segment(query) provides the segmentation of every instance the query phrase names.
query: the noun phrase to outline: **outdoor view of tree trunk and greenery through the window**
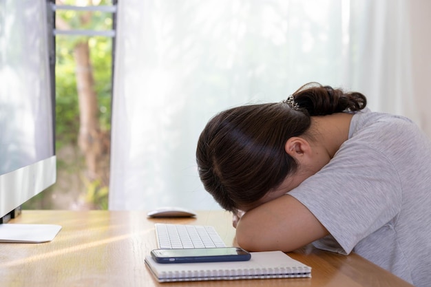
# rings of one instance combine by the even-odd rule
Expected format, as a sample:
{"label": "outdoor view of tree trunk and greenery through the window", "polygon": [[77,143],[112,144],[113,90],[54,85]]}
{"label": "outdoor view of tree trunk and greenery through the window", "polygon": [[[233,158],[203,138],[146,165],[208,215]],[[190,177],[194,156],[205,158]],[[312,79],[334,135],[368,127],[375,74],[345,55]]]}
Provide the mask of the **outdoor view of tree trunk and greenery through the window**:
{"label": "outdoor view of tree trunk and greenery through the window", "polygon": [[[109,0],[79,1],[80,6]],[[76,5],[56,0],[57,5]],[[57,10],[57,30],[109,30],[111,15]],[[111,39],[56,36],[57,183],[28,208],[107,208],[109,184]],[[64,200],[59,200],[59,198]],[[52,200],[55,198],[55,200]],[[64,202],[64,203],[61,203]],[[59,206],[59,204],[62,204]]]}

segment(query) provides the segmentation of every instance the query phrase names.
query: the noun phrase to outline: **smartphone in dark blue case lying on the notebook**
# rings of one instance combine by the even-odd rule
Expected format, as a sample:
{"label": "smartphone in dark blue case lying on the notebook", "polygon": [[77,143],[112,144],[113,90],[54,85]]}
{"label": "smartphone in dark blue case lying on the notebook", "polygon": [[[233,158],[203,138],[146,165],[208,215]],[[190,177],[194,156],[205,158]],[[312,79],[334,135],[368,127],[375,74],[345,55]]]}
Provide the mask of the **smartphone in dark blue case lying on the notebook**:
{"label": "smartphone in dark blue case lying on the notebook", "polygon": [[249,252],[240,247],[154,249],[151,257],[158,263],[247,261]]}

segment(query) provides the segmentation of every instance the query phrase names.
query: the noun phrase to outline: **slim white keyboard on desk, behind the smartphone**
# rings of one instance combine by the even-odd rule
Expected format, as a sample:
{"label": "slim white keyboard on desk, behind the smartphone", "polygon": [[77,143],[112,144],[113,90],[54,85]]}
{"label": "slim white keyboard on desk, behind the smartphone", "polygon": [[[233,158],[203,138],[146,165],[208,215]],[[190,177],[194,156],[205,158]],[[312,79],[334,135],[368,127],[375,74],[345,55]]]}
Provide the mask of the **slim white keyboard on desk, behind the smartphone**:
{"label": "slim white keyboard on desk, behind the smartphone", "polygon": [[213,226],[154,224],[160,249],[226,247]]}

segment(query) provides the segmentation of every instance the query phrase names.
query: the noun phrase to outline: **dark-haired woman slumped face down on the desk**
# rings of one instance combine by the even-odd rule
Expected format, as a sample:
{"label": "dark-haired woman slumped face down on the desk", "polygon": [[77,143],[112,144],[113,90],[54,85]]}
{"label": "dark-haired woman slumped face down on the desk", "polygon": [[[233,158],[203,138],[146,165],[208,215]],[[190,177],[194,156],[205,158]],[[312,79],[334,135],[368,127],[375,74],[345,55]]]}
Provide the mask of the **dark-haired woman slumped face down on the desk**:
{"label": "dark-haired woman slumped face down on the desk", "polygon": [[352,251],[431,286],[431,145],[357,92],[304,85],[282,103],[222,111],[196,151],[205,189],[244,213],[249,251]]}

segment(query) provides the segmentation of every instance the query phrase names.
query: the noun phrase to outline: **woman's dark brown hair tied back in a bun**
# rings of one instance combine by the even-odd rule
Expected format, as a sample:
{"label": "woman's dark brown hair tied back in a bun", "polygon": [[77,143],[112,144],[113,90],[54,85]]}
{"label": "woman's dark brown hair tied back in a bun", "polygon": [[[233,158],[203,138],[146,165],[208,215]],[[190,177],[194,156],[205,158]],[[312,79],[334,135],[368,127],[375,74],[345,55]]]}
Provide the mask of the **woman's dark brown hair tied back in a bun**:
{"label": "woman's dark brown hair tied back in a bun", "polygon": [[284,145],[307,131],[311,116],[366,107],[363,94],[318,83],[308,83],[292,96],[297,109],[285,102],[234,107],[211,118],[200,134],[200,180],[223,209],[235,212],[256,202],[295,173],[297,162]]}

